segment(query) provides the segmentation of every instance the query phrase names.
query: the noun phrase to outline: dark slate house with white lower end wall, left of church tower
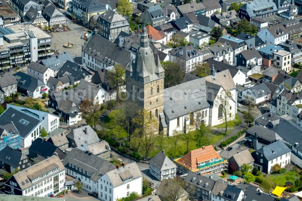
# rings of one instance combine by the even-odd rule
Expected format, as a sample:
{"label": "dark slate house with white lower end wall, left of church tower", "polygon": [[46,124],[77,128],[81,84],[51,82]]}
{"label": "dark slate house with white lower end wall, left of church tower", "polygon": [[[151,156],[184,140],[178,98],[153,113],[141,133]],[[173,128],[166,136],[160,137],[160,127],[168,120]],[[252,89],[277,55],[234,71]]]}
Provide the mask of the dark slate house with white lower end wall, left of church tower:
{"label": "dark slate house with white lower end wall, left of church tower", "polygon": [[49,97],[48,106],[57,110],[67,124],[74,125],[82,120],[82,112],[79,106],[81,100],[73,90],[50,91]]}

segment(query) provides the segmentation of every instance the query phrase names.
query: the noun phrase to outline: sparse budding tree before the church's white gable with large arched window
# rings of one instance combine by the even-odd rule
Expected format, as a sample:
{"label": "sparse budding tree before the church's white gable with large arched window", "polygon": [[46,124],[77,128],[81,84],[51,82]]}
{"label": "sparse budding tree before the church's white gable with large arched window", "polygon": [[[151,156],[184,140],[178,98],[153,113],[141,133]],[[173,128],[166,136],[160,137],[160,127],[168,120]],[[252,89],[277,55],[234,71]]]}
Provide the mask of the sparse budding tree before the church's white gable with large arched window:
{"label": "sparse budding tree before the church's white gable with large arched window", "polygon": [[233,122],[230,122],[230,120],[232,120],[234,116],[230,112],[231,108],[229,103],[232,96],[230,91],[223,89],[215,100],[215,106],[218,108],[218,119],[225,125],[225,135],[228,126],[233,125]]}

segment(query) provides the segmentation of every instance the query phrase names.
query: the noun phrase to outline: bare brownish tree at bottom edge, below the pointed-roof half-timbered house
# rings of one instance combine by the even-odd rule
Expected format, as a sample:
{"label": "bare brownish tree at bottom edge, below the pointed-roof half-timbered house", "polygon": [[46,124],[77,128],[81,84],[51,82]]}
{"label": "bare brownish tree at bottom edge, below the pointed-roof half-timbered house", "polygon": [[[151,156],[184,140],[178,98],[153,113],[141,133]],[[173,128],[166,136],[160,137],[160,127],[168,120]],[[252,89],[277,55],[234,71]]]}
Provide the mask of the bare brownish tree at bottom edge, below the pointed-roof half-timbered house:
{"label": "bare brownish tree at bottom edge, below the pointed-roof half-timbered house", "polygon": [[162,201],[177,201],[185,188],[185,181],[176,176],[172,179],[164,179],[157,191],[158,196]]}

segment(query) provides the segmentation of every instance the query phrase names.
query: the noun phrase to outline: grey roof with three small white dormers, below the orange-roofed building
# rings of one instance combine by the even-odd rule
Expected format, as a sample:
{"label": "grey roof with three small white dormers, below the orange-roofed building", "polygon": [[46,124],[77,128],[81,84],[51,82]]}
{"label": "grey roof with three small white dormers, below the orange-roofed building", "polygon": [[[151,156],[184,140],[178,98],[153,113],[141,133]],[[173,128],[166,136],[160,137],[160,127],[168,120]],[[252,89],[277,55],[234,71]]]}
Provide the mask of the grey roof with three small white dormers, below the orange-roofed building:
{"label": "grey roof with three small white dormers, below the orange-roofed building", "polygon": [[[194,178],[194,181],[192,179]],[[214,186],[215,181],[201,174],[196,174],[195,172],[189,171],[185,178],[185,182],[194,185],[202,190],[210,192]],[[198,182],[200,184],[198,184]],[[207,186],[205,185],[207,184]]]}

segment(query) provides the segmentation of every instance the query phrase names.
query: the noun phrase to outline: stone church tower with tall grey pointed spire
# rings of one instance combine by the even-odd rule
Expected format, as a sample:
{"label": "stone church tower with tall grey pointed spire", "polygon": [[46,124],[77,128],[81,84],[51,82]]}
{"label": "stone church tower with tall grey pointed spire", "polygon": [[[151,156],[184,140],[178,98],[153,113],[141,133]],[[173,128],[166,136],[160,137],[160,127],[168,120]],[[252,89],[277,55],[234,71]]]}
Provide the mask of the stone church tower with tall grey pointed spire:
{"label": "stone church tower with tall grey pointed spire", "polygon": [[159,123],[159,114],[164,111],[165,70],[158,56],[155,62],[149,43],[146,26],[143,25],[135,60],[131,57],[126,67],[127,102],[135,102],[139,106],[137,109],[145,108]]}

